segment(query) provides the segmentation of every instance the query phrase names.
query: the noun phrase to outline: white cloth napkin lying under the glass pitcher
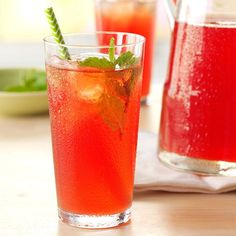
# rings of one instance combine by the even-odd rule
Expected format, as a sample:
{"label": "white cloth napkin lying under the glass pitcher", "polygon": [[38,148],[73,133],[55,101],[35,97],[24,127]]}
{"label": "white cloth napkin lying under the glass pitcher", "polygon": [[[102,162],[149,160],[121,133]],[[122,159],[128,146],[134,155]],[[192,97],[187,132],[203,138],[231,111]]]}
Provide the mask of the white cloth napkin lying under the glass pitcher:
{"label": "white cloth napkin lying under the glass pitcher", "polygon": [[135,191],[223,193],[236,190],[236,177],[198,176],[164,166],[157,158],[157,135],[139,132]]}

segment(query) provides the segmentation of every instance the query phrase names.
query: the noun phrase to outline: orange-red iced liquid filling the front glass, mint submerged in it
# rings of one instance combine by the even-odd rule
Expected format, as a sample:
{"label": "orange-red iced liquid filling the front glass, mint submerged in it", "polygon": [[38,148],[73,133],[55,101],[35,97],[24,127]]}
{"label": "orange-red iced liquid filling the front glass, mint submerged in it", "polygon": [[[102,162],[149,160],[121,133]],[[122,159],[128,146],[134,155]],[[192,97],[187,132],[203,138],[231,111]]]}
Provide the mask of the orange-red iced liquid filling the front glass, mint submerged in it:
{"label": "orange-red iced liquid filling the front glass, mint submerged in it", "polygon": [[140,77],[139,65],[123,70],[47,65],[61,210],[109,215],[131,206]]}

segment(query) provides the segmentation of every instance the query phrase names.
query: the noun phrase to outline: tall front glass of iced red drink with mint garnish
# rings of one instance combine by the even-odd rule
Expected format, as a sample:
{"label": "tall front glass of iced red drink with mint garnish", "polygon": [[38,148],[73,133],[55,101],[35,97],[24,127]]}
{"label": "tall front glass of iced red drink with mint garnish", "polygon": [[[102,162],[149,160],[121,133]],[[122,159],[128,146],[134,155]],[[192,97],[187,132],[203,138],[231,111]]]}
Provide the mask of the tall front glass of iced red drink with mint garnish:
{"label": "tall front glass of iced red drink with mint garnish", "polygon": [[[114,41],[100,44],[103,37]],[[64,38],[65,45],[44,40],[59,217],[113,227],[130,219],[145,39],[103,32]]]}

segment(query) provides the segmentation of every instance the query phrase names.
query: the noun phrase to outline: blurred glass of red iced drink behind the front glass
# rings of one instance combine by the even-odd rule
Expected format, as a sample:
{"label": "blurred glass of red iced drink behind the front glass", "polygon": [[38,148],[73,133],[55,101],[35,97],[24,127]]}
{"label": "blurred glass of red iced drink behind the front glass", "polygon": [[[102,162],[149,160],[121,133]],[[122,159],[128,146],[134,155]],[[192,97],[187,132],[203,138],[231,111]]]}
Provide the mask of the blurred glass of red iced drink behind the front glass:
{"label": "blurred glass of red iced drink behind the front glass", "polygon": [[96,0],[97,30],[141,34],[146,38],[142,101],[152,77],[156,0]]}

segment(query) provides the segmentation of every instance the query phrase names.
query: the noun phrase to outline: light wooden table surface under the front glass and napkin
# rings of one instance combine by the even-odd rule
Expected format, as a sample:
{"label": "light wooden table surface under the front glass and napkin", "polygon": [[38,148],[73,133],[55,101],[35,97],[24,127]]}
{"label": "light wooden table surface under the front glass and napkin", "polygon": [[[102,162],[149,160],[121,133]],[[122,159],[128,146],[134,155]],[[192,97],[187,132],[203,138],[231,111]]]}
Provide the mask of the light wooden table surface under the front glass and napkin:
{"label": "light wooden table surface under the front glass and napkin", "polygon": [[[160,88],[140,128],[157,132]],[[235,236],[236,193],[136,193],[132,221],[85,230],[58,221],[47,115],[0,117],[0,236]]]}

